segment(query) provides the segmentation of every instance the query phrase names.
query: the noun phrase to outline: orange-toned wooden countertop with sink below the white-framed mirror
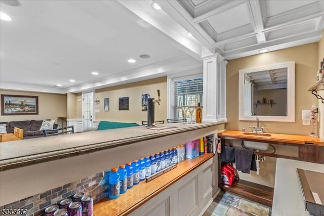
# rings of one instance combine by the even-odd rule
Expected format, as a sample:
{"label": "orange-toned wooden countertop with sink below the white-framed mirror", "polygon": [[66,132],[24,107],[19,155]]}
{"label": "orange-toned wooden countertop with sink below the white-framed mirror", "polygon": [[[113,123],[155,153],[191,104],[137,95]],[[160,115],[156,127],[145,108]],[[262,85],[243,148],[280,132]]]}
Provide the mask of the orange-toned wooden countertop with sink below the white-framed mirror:
{"label": "orange-toned wooden countertop with sink below the white-framed mirror", "polygon": [[265,133],[265,134],[271,134],[271,136],[263,136],[263,135],[246,135],[244,133],[245,132],[237,131],[237,130],[224,130],[219,132],[218,136],[256,140],[256,141],[289,143],[289,144],[297,144],[297,145],[313,144],[318,146],[324,146],[324,140],[320,138],[312,138],[310,136],[305,136],[305,135]]}

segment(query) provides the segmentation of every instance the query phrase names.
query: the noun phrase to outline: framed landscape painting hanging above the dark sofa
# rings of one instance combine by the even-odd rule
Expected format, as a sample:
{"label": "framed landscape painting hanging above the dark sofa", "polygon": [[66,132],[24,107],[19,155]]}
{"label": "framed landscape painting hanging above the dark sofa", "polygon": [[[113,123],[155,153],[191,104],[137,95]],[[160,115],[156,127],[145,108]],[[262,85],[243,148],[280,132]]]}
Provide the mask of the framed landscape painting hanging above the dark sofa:
{"label": "framed landscape painting hanging above the dark sofa", "polygon": [[38,115],[38,96],[2,94],[1,115]]}

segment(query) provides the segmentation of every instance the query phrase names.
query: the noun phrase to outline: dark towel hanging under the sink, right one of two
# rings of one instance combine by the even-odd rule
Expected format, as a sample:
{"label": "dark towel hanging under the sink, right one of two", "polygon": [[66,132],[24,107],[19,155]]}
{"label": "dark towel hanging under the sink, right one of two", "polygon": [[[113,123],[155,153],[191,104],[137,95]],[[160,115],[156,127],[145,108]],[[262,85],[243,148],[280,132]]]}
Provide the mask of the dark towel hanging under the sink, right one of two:
{"label": "dark towel hanging under the sink, right one of two", "polygon": [[253,150],[235,149],[235,166],[238,171],[250,173]]}

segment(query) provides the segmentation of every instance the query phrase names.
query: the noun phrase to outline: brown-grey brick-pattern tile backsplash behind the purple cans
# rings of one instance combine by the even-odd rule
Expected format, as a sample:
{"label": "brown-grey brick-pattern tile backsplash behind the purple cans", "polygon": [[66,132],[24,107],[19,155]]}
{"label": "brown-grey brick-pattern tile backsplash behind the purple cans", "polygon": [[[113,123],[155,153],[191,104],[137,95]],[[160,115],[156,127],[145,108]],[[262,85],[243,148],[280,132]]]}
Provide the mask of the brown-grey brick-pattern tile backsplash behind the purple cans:
{"label": "brown-grey brick-pattern tile backsplash behind the purple cans", "polygon": [[[13,203],[0,206],[0,215],[4,215],[2,210],[8,208],[27,209],[28,213],[23,215],[43,215],[47,206],[58,204],[60,200],[64,198],[71,198],[73,194],[78,192],[84,192],[86,195],[91,195],[94,203],[98,202],[100,199],[107,196],[108,189],[108,183],[105,181],[106,177],[104,177],[103,181],[98,186],[101,179],[102,172],[57,188],[53,188],[41,194],[36,194]],[[91,186],[89,187],[89,185]]]}

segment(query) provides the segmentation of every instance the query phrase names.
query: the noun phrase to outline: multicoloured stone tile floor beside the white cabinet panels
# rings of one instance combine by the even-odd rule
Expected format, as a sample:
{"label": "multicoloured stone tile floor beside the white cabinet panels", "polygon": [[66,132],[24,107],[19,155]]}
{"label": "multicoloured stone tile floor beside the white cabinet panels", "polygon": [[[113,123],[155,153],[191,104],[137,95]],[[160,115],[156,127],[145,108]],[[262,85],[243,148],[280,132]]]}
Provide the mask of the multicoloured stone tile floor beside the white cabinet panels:
{"label": "multicoloured stone tile floor beside the white cabinet panels", "polygon": [[221,191],[203,216],[271,216],[271,207]]}

